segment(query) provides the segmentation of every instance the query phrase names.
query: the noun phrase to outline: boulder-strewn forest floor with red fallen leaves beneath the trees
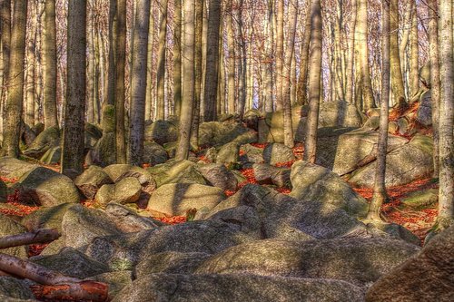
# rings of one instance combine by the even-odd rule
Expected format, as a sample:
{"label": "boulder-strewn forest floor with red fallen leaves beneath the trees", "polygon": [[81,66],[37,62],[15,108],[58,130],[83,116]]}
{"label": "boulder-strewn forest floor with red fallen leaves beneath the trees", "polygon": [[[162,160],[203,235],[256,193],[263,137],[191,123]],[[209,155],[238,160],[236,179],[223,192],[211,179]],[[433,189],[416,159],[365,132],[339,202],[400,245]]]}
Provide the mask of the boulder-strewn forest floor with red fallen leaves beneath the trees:
{"label": "boulder-strewn forest floor with red fallen leaves beneath the trees", "polygon": [[[346,103],[321,107],[317,164],[301,161],[304,107],[294,149],[280,112],[251,111],[202,123],[189,161],[173,160],[178,123],[150,122],[143,167],[113,164],[113,138],[87,124],[81,175],[55,171],[58,130],[25,127],[25,157],[0,159],[0,236],[62,236],[2,252],[107,283],[113,301],[450,301],[454,229],[421,248],[438,196],[421,100],[391,115],[386,222],[363,220],[377,114]],[[31,285],[0,277],[0,299],[32,301]]]}

